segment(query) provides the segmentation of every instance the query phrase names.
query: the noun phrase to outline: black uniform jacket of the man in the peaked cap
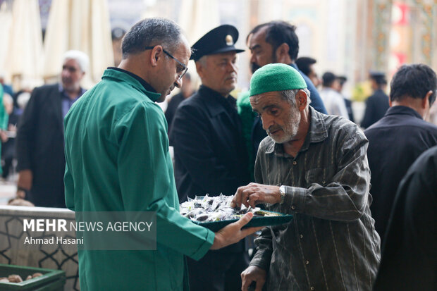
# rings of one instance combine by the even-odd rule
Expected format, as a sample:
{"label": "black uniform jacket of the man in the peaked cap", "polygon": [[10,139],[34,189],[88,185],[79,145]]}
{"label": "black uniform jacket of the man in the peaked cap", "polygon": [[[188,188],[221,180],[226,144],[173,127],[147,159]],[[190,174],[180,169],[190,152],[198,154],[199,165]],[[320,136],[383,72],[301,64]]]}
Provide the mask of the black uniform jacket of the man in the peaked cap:
{"label": "black uniform jacket of the man in the peaked cap", "polygon": [[170,132],[180,202],[187,197],[233,195],[246,185],[247,152],[233,97],[201,86],[183,101]]}

